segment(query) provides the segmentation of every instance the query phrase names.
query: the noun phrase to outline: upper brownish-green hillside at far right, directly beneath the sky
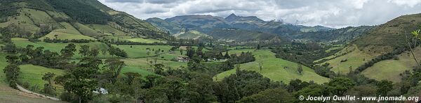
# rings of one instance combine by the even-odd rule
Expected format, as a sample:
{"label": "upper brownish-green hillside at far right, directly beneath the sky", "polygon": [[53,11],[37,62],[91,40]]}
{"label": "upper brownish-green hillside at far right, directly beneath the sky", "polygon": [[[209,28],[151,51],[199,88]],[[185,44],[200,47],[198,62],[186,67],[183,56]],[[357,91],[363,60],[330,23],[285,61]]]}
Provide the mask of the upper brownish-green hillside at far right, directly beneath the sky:
{"label": "upper brownish-green hillside at far right, directly beneath the sky", "polygon": [[376,26],[366,35],[354,40],[359,49],[373,54],[385,54],[406,44],[405,35],[418,29],[421,24],[421,14],[403,15],[391,21]]}

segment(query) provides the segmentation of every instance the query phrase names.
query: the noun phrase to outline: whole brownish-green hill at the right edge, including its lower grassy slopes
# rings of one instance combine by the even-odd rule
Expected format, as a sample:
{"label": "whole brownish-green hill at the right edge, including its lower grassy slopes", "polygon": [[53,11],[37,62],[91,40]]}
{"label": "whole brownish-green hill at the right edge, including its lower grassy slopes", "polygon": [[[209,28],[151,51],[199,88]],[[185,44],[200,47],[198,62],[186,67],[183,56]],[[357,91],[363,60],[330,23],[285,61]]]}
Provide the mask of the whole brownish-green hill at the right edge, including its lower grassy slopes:
{"label": "whole brownish-green hill at the right edge, including its lower grassy slopes", "polygon": [[[410,31],[419,29],[420,24],[421,14],[414,14],[403,15],[385,24],[374,26],[364,35],[350,42],[335,56],[327,57],[328,61],[324,63],[330,63],[334,72],[346,74],[349,68],[355,70],[364,63],[372,61],[373,58],[394,52],[396,49],[405,49],[407,47],[406,35],[410,37]],[[414,50],[414,54],[415,56],[421,54],[419,47]],[[405,70],[412,70],[414,66],[415,61],[410,56],[410,52],[406,51],[396,54],[394,59],[375,62],[361,73],[371,79],[398,82],[401,80],[400,74]]]}

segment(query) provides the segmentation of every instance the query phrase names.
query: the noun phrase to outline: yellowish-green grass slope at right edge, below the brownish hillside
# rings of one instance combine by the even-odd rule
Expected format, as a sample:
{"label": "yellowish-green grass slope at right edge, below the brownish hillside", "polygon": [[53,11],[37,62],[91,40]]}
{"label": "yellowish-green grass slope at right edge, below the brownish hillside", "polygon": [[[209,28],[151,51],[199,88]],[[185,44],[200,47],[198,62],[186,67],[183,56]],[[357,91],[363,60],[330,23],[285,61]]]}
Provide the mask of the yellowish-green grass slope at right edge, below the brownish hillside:
{"label": "yellowish-green grass slope at right edge, below the brownish hillside", "polygon": [[[415,57],[421,57],[421,48],[417,47],[414,49]],[[413,70],[417,65],[410,52],[403,52],[397,56],[397,60],[390,59],[375,63],[370,68],[367,68],[362,72],[366,77],[370,79],[382,80],[387,79],[389,81],[399,82],[401,81],[401,74],[405,70]],[[420,59],[418,59],[419,61]]]}

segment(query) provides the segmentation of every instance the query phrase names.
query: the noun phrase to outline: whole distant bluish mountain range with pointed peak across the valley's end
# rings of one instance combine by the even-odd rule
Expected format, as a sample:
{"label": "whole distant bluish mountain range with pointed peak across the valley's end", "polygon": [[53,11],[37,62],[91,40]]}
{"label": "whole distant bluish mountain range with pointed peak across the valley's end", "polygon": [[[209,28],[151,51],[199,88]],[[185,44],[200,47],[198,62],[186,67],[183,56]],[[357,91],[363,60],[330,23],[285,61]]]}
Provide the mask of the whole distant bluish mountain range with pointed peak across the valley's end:
{"label": "whole distant bluish mountain range with pointed peak across the valley's end", "polygon": [[[186,37],[186,35],[191,35],[198,37],[206,34],[206,36],[212,36],[217,40],[227,38],[222,40],[231,41],[267,40],[267,37],[275,35],[285,39],[304,38],[311,41],[349,42],[371,28],[371,26],[350,26],[343,29],[333,29],[326,26],[302,26],[287,22],[276,22],[275,20],[265,21],[255,16],[242,17],[234,13],[225,18],[212,15],[182,15],[167,19],[154,17],[146,19],[146,22],[162,31],[168,31],[172,35],[177,34],[175,36]],[[198,34],[185,32],[185,30],[194,31]],[[229,32],[233,30],[235,32]],[[244,34],[245,32],[246,34]],[[241,38],[241,36],[249,38]]]}

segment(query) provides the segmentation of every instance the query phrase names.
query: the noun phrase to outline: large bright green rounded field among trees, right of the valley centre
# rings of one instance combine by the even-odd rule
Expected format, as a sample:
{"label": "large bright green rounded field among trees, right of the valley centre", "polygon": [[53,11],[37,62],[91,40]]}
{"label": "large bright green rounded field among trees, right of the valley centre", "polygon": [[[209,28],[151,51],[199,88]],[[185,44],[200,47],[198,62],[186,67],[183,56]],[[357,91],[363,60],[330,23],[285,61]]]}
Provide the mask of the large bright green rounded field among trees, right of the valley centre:
{"label": "large bright green rounded field among trees, right of the valley centre", "polygon": [[[258,50],[255,51],[254,49],[242,49],[242,50],[233,50],[229,51],[229,54],[239,54],[241,52],[253,52],[253,55],[256,57],[256,61],[250,63],[243,63],[240,65],[241,70],[253,70],[256,72],[260,72],[265,77],[269,77],[269,79],[273,81],[283,81],[288,83],[290,80],[293,79],[301,79],[302,81],[314,81],[315,83],[322,84],[328,81],[328,78],[321,77],[319,74],[316,74],[314,70],[303,67],[303,73],[298,74],[297,72],[297,63],[293,63],[290,61],[283,60],[281,58],[276,58],[274,53],[270,52],[269,50]],[[258,62],[262,61],[263,69],[260,71]],[[224,77],[229,76],[230,74],[234,74],[235,69],[228,70],[226,72],[222,72],[216,75],[213,79],[214,80],[222,80]]]}

